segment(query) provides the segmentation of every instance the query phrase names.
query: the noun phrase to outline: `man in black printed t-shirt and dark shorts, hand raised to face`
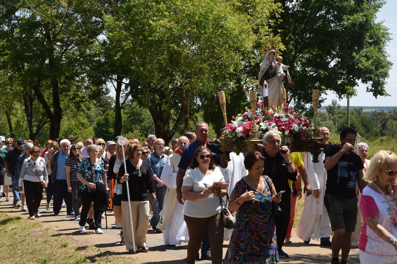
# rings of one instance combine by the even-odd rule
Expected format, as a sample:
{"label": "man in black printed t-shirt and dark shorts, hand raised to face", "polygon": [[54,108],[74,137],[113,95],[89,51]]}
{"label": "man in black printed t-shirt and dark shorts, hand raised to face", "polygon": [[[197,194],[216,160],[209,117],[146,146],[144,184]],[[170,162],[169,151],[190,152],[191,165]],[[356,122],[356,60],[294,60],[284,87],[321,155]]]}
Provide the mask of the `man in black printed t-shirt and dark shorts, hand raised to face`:
{"label": "man in black printed t-shirt and dark shorts, hand raised to face", "polygon": [[331,264],[339,264],[339,251],[342,249],[341,264],[347,263],[351,247],[351,233],[357,220],[356,180],[360,191],[365,187],[362,179],[364,165],[354,149],[357,132],[345,127],[340,134],[342,146],[328,144],[324,148],[324,167],[327,170],[327,184],[324,205],[330,217],[332,237]]}

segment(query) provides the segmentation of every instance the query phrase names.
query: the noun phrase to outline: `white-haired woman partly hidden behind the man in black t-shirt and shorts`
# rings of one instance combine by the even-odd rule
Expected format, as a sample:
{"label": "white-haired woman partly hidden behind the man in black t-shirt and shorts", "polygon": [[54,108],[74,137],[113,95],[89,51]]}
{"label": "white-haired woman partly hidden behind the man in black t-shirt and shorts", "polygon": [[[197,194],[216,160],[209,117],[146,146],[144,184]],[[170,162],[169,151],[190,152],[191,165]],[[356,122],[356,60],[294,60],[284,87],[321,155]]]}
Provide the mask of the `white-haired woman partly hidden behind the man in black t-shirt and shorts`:
{"label": "white-haired woman partly hidden behind the man in black t-shirt and shorts", "polygon": [[[358,156],[360,156],[362,164],[364,164],[364,169],[362,169],[362,172],[365,175],[366,170],[368,169],[368,167],[370,166],[371,161],[367,160],[366,158],[368,157],[368,144],[364,143],[364,142],[360,142],[357,144],[356,146],[356,152],[358,154]],[[358,207],[358,213],[357,213],[357,222],[356,222],[356,226],[354,229],[354,232],[351,234],[351,246],[352,247],[358,247],[358,240],[360,239],[360,234],[361,234],[361,211],[360,211],[360,189],[358,189],[358,184],[356,184],[356,194],[357,194],[357,207]]]}

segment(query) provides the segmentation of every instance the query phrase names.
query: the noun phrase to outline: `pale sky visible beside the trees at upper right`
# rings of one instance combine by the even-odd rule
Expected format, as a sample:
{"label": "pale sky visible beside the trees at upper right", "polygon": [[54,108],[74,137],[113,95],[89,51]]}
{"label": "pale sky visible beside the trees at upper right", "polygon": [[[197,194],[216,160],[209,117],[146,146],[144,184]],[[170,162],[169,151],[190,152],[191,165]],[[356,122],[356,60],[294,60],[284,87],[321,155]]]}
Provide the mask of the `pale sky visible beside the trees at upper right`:
{"label": "pale sky visible beside the trees at upper right", "polygon": [[[388,0],[386,4],[380,9],[377,14],[377,21],[383,21],[384,25],[389,28],[391,32],[391,38],[393,38],[386,51],[389,54],[389,60],[393,63],[389,72],[389,78],[387,78],[386,91],[391,96],[378,96],[375,98],[372,93],[366,92],[366,85],[360,84],[357,87],[357,96],[350,99],[351,106],[397,106],[397,0]],[[379,72],[379,74],[382,74]],[[331,104],[332,99],[339,101],[342,106],[347,105],[347,99],[339,100],[334,93],[328,93],[323,95],[327,97],[325,102],[322,104],[326,106]]]}

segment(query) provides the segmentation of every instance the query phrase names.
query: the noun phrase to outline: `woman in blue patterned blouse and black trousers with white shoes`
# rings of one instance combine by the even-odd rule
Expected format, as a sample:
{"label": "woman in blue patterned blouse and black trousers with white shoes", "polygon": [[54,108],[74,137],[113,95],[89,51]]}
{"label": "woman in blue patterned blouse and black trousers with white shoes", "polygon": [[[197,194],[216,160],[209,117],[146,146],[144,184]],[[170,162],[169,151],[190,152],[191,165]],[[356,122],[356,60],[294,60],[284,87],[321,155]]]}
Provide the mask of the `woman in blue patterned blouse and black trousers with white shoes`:
{"label": "woman in blue patterned blouse and black trousers with white shoes", "polygon": [[91,201],[94,202],[94,228],[96,234],[103,234],[101,220],[103,209],[107,204],[107,193],[110,191],[106,181],[104,163],[98,159],[98,146],[87,146],[88,158],[83,159],[77,170],[77,178],[81,181],[80,197],[82,202],[79,225],[80,231],[85,231],[85,222]]}

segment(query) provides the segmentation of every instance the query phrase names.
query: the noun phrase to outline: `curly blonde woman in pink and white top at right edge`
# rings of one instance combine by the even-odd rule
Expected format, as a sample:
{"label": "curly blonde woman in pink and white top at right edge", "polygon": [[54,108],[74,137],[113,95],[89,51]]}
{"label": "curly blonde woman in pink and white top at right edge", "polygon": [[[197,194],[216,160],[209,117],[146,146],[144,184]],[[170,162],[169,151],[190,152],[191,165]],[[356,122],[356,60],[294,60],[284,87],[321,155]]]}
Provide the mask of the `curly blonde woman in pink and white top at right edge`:
{"label": "curly blonde woman in pink and white top at right edge", "polygon": [[397,215],[396,177],[397,156],[384,150],[376,153],[364,175],[371,183],[362,190],[360,200],[364,218],[358,243],[361,264],[397,263],[397,221],[391,211]]}

